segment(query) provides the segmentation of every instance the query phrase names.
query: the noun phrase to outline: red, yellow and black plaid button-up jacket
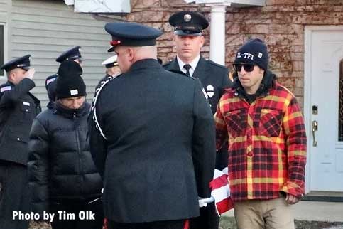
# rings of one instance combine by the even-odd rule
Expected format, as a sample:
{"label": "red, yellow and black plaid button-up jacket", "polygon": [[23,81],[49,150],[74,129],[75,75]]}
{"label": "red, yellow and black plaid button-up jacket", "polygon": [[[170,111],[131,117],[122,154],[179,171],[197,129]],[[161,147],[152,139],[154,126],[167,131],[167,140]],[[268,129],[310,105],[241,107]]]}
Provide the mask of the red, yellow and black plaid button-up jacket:
{"label": "red, yellow and black plaid button-up jacket", "polygon": [[230,88],[214,115],[217,149],[229,138],[232,199],[271,199],[281,191],[302,196],[306,133],[294,95],[277,82],[249,104]]}

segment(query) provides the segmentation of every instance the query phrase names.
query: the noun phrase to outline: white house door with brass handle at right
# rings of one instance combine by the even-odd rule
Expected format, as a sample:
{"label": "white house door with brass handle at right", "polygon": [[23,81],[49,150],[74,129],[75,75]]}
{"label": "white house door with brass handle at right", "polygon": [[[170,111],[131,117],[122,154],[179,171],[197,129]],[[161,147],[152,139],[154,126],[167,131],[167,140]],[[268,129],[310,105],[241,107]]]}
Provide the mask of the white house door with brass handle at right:
{"label": "white house door with brass handle at right", "polygon": [[[310,187],[343,191],[343,28],[307,31],[307,141]],[[310,53],[307,54],[306,52]],[[306,69],[308,68],[308,69]],[[305,76],[306,77],[306,76]],[[306,87],[306,85],[305,85]],[[307,169],[309,168],[307,167]],[[310,189],[310,190],[309,190]]]}

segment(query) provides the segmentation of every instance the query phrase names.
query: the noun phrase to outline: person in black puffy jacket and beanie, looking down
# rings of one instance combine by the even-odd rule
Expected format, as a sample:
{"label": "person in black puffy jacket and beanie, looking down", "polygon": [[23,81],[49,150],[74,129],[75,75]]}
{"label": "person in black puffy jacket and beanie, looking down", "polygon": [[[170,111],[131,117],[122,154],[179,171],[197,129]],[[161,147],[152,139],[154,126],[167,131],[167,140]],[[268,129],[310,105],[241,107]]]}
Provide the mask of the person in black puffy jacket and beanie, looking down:
{"label": "person in black puffy jacket and beanie, looking down", "polygon": [[55,108],[41,112],[31,127],[31,209],[41,217],[44,211],[55,213],[53,229],[102,228],[102,179],[87,142],[89,104],[82,68],[67,60],[58,75]]}

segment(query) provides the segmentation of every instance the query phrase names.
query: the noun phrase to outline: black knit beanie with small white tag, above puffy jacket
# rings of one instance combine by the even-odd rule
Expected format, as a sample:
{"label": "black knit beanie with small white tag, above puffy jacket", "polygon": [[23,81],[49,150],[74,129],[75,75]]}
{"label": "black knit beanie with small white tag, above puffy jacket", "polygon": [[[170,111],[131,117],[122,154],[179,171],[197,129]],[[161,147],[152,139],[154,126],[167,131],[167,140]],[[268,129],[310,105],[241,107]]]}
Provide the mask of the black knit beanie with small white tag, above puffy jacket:
{"label": "black knit beanie with small white tag, above puffy jacket", "polygon": [[58,68],[56,80],[56,97],[64,99],[68,97],[80,97],[87,95],[86,85],[82,78],[81,66],[73,60],[66,60]]}

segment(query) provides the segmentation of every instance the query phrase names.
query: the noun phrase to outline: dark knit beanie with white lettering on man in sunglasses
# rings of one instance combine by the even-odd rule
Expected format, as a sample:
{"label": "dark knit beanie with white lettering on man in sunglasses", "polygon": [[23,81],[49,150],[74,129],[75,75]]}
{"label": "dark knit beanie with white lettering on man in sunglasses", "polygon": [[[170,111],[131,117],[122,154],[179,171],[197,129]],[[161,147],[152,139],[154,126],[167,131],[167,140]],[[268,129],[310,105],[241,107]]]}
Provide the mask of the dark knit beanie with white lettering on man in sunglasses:
{"label": "dark knit beanie with white lettering on man in sunglasses", "polygon": [[263,70],[268,69],[267,46],[260,39],[247,41],[236,54],[234,63],[253,63]]}

